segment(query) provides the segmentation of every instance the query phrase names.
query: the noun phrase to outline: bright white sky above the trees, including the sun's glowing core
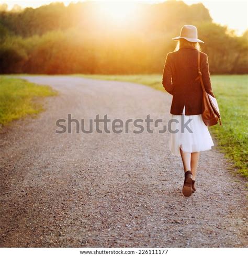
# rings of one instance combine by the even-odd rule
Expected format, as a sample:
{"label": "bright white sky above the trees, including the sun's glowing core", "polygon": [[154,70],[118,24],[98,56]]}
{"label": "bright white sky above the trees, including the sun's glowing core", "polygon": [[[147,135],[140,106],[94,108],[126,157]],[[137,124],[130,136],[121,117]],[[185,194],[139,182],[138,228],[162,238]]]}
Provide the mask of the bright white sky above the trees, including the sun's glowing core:
{"label": "bright white sky above the trees, including the sun's glowing core", "polygon": [[[51,2],[63,2],[65,5],[68,5],[71,0],[4,0],[0,1],[0,4],[7,3],[9,9],[11,9],[15,4],[18,4],[22,7],[38,7],[40,5],[49,4]],[[81,1],[82,2],[82,1]],[[104,2],[104,1],[101,1]],[[106,12],[109,15],[112,15],[117,21],[121,21],[125,16],[130,15],[132,11],[132,5],[130,2],[148,2],[148,3],[158,3],[164,2],[164,0],[131,0],[131,1],[112,1],[113,4],[106,5]],[[117,2],[122,2],[117,4]],[[185,0],[186,4],[193,3],[203,3],[210,12],[211,17],[216,23],[221,25],[227,25],[231,29],[235,29],[236,34],[241,35],[245,29],[247,29],[247,1],[245,0],[236,0],[236,1],[224,1],[224,0],[213,0],[213,1],[194,1],[194,0]]]}

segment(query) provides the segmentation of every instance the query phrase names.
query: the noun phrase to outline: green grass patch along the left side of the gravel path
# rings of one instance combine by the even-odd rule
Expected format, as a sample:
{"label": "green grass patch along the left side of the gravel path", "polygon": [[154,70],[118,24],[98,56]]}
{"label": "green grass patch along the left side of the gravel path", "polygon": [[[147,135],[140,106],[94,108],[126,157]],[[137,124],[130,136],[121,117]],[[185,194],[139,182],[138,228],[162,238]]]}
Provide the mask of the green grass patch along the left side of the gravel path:
{"label": "green grass patch along the left side of the gravel path", "polygon": [[36,99],[55,94],[49,86],[0,76],[0,128],[15,119],[39,113],[42,105]]}

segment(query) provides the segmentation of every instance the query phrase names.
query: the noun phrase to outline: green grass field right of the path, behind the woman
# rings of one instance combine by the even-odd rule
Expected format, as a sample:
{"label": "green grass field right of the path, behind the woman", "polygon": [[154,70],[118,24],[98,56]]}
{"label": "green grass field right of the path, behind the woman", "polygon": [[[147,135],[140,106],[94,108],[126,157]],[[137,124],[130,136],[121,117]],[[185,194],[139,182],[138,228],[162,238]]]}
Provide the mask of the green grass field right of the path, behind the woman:
{"label": "green grass field right of the path, behind the woman", "polygon": [[[127,81],[164,91],[161,75],[83,75],[87,78]],[[219,149],[233,162],[233,173],[248,177],[247,96],[248,75],[212,75],[211,82],[221,112],[222,126],[209,127]],[[165,92],[165,91],[164,91]]]}

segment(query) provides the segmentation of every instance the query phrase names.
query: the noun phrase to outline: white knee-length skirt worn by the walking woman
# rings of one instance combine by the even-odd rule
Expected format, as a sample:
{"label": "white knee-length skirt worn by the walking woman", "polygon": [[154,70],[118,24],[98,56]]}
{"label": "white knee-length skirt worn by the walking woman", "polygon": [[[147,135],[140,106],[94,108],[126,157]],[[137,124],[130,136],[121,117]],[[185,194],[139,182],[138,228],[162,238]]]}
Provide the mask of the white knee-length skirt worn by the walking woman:
{"label": "white knee-length skirt worn by the walking woman", "polygon": [[[185,106],[183,114],[185,114]],[[172,119],[177,121],[172,121],[171,131],[178,130],[175,133],[170,132],[170,150],[173,155],[181,155],[180,148],[190,153],[211,149],[213,141],[201,115],[172,115]],[[187,125],[189,130],[186,128],[183,130],[182,122],[187,124],[189,119],[191,119]]]}

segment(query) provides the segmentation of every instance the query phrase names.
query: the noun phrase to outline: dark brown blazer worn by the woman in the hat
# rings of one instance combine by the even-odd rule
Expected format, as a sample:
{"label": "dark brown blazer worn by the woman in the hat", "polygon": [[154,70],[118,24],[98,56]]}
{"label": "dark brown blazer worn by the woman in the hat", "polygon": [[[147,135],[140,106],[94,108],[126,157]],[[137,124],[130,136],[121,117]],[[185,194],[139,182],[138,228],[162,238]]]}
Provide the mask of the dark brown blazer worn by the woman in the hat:
{"label": "dark brown blazer worn by the woman in the hat", "polygon": [[[193,47],[183,47],[178,51],[169,52],[166,56],[163,71],[163,86],[173,95],[171,114],[182,115],[185,105],[185,115],[201,114],[202,88],[197,70],[198,50]],[[200,52],[200,68],[205,90],[211,96],[212,92],[208,55]]]}

